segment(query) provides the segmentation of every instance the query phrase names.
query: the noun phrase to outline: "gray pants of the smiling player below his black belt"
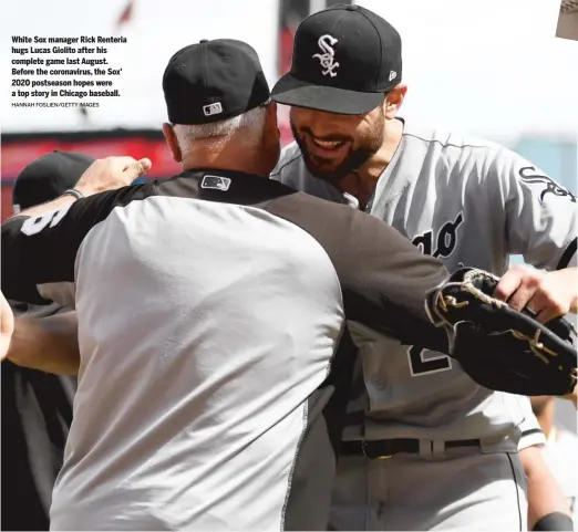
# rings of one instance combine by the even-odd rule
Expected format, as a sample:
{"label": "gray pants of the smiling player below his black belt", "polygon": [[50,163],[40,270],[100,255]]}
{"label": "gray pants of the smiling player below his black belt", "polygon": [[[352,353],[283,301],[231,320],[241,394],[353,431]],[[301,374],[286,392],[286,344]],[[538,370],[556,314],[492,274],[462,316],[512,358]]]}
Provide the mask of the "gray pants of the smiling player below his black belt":
{"label": "gray pants of the smiling player below his black belt", "polygon": [[517,453],[451,449],[441,457],[343,457],[330,530],[526,531],[526,477]]}

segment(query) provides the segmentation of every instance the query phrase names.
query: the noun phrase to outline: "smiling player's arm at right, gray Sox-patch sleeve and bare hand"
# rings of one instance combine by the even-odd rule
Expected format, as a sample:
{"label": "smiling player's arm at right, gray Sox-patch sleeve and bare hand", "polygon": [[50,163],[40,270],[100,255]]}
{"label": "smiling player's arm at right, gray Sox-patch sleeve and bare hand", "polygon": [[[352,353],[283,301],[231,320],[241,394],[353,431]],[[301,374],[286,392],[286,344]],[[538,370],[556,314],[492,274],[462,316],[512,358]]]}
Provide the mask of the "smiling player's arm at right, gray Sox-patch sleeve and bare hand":
{"label": "smiling player's arm at right, gray Sox-patch sleeve and bare hand", "polygon": [[[578,198],[535,165],[500,150],[484,181],[491,205],[503,206],[494,221],[506,236],[505,251],[535,267],[514,265],[496,288],[496,298],[522,310],[529,306],[545,323],[578,306]],[[545,270],[545,271],[539,271]]]}

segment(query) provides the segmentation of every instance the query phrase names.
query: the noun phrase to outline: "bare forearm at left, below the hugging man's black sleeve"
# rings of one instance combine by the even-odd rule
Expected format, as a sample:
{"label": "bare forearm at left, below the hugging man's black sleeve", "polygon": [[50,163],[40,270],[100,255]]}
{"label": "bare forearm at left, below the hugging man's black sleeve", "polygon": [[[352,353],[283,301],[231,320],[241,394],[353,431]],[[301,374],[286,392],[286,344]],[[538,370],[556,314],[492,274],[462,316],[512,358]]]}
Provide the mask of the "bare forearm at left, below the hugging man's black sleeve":
{"label": "bare forearm at left, below the hugging man's black sleeve", "polygon": [[73,311],[48,317],[17,317],[6,358],[58,375],[78,375],[80,351]]}

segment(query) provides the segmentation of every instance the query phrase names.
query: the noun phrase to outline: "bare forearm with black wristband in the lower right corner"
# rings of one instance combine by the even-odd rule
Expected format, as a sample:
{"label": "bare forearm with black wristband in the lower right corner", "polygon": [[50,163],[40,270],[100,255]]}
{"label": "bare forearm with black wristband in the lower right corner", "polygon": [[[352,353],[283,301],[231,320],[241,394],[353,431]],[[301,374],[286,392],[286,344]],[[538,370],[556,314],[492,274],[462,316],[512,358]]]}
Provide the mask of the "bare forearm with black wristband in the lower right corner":
{"label": "bare forearm with black wristband in the lower right corner", "polygon": [[[529,530],[572,530],[569,525],[544,528],[544,523],[548,526],[548,521],[553,519],[556,523],[562,522],[568,524],[564,517],[570,520],[569,524],[571,525],[571,513],[558,482],[556,482],[556,479],[544,460],[541,448],[538,446],[527,447],[519,451],[519,456],[528,487]],[[536,524],[540,521],[543,525],[535,529]]]}

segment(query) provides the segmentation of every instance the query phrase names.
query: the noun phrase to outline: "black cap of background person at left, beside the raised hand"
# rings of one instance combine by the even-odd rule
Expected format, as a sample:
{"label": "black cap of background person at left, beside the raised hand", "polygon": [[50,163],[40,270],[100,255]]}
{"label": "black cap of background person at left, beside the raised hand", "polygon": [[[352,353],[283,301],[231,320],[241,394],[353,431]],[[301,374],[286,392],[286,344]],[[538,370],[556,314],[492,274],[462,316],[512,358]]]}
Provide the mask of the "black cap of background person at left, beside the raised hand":
{"label": "black cap of background person at left, beside the raised hand", "polygon": [[87,155],[54,150],[30,163],[12,189],[14,211],[51,201],[64,190],[74,188],[94,160]]}

